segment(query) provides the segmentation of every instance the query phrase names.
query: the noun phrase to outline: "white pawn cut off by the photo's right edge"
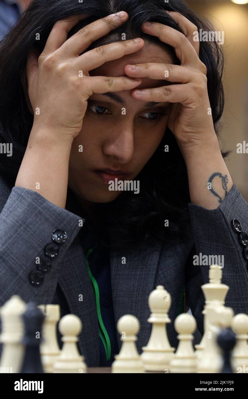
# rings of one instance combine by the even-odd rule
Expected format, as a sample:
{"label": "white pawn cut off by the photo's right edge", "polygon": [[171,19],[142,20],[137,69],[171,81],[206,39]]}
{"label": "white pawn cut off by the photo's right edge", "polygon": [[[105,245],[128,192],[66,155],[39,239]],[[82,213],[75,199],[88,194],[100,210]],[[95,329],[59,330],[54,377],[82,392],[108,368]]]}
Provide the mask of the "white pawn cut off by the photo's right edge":
{"label": "white pawn cut off by the photo's right edge", "polygon": [[247,314],[236,314],[232,319],[231,328],[236,334],[236,345],[232,350],[232,367],[234,373],[248,373]]}

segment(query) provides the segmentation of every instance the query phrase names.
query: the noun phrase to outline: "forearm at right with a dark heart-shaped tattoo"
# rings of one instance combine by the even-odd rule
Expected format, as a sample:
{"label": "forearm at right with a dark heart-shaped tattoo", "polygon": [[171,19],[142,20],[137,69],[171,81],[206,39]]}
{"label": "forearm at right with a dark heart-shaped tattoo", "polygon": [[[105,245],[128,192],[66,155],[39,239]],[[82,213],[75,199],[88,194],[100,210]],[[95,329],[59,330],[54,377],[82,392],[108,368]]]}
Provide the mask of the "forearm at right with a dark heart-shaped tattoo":
{"label": "forearm at right with a dark heart-shaped tattoo", "polygon": [[233,182],[221,155],[219,143],[213,141],[184,151],[191,203],[216,209],[231,190]]}

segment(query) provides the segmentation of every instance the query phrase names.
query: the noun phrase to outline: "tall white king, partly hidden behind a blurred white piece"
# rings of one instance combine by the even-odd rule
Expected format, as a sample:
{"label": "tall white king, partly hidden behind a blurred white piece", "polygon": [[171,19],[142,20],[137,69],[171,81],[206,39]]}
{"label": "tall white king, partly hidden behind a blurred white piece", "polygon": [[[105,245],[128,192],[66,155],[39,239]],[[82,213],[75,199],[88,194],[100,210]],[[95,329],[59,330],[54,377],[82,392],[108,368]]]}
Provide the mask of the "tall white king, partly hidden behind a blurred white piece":
{"label": "tall white king, partly hidden behind a blurred white piece", "polygon": [[209,267],[209,283],[203,284],[201,289],[205,296],[205,305],[202,314],[204,314],[204,334],[199,345],[195,345],[197,358],[201,357],[201,352],[205,348],[207,336],[209,334],[210,316],[209,310],[215,309],[218,305],[225,304],[225,298],[229,287],[221,283],[222,269],[219,265]]}

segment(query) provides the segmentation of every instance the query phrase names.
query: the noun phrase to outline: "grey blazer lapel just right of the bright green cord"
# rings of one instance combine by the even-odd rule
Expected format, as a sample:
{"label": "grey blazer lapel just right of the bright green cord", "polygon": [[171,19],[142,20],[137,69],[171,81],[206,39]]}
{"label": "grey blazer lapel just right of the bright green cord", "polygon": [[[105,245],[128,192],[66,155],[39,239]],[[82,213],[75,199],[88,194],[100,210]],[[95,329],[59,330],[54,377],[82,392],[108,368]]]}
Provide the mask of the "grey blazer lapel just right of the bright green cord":
{"label": "grey blazer lapel just right of the bright green cord", "polygon": [[[137,348],[139,353],[150,337],[151,326],[148,296],[155,288],[154,280],[161,244],[148,247],[145,244],[132,254],[125,251],[110,253],[112,299],[115,324],[125,314],[133,314],[140,322]],[[119,338],[119,332],[117,332]],[[118,339],[119,350],[121,341]]]}

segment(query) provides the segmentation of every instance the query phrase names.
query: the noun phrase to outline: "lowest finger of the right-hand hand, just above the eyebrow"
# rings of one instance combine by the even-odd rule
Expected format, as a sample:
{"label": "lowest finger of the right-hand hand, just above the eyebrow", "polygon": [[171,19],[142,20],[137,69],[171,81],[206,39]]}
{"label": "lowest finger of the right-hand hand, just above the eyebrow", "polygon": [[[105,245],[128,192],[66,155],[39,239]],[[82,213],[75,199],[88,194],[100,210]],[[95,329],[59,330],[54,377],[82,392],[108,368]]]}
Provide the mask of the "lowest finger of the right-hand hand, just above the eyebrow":
{"label": "lowest finger of the right-hand hand, just above the eyebrow", "polygon": [[[131,94],[133,98],[146,102],[186,104],[189,102],[189,93],[191,93],[191,87],[189,83],[186,83],[184,85],[168,85],[154,89],[135,89]],[[192,99],[190,101],[192,103]]]}

